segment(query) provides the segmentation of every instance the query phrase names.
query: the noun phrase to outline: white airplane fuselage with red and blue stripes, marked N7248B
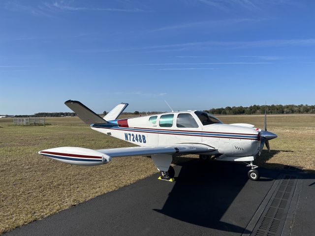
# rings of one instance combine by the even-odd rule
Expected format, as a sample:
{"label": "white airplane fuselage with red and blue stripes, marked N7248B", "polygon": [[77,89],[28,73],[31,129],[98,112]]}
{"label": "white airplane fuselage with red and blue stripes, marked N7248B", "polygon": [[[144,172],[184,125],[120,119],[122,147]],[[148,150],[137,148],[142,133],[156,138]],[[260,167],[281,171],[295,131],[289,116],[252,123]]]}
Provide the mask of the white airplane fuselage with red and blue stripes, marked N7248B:
{"label": "white airplane fuselage with red and blue stripes, marked N7248B", "polygon": [[[180,117],[189,116],[180,114],[189,114],[195,121],[190,126],[194,127],[178,127]],[[191,119],[190,116],[189,118]],[[165,123],[164,117],[168,117],[166,121],[169,123]],[[154,122],[152,118],[154,118]],[[164,122],[162,122],[163,119]],[[186,126],[189,126],[189,124]],[[106,124],[91,124],[91,128],[138,146],[152,147],[185,143],[205,144],[217,149],[212,154],[223,154],[222,157],[235,157],[236,159],[237,157],[243,158],[240,161],[253,160],[253,157],[259,151],[260,145],[258,129],[223,124],[221,121],[203,125],[195,111],[110,120]],[[244,157],[250,158],[244,159]]]}

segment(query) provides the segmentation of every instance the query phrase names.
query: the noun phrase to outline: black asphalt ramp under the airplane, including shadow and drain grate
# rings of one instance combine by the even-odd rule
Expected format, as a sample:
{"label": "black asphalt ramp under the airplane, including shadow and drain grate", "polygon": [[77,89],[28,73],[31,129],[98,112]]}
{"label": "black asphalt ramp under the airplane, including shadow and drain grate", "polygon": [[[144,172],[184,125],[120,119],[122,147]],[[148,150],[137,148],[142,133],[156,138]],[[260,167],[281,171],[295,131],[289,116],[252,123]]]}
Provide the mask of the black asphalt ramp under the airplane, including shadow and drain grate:
{"label": "black asphalt ramp under the airplane, including shadow and drain grate", "polygon": [[6,236],[34,235],[314,235],[315,175],[194,159],[175,167],[176,181],[158,175],[101,195]]}

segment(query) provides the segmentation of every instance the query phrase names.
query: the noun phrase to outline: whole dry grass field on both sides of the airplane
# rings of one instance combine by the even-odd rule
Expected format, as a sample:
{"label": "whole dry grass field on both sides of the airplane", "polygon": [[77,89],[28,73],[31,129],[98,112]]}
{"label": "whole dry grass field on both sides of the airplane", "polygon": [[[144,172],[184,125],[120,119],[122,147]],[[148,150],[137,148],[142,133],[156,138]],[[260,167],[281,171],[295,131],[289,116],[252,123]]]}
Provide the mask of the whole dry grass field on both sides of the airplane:
{"label": "whole dry grass field on both sides of the airplane", "polygon": [[[260,115],[218,118],[263,126]],[[140,156],[115,158],[95,167],[40,156],[39,150],[62,146],[132,146],[91,130],[77,117],[47,118],[46,122],[51,125],[13,126],[11,118],[0,118],[0,234],[157,172],[150,158]],[[315,170],[315,115],[270,115],[267,129],[278,138],[270,141],[272,151],[264,150],[256,161],[259,166]]]}

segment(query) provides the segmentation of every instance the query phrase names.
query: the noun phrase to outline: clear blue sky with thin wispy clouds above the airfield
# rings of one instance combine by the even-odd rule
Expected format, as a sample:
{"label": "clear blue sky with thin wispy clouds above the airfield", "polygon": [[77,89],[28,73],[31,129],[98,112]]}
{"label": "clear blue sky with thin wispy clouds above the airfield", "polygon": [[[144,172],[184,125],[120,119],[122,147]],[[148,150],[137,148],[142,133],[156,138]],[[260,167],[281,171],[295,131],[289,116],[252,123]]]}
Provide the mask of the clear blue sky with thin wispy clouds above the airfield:
{"label": "clear blue sky with thin wispy clouds above the airfield", "polygon": [[315,1],[1,0],[0,114],[315,104]]}

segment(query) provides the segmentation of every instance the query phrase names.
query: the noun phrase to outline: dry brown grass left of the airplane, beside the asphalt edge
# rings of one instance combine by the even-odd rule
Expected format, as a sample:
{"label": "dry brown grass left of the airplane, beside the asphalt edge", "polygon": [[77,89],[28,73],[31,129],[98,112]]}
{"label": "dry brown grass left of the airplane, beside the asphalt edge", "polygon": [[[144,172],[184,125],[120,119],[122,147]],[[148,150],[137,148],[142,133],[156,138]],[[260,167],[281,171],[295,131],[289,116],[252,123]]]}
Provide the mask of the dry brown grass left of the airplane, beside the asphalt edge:
{"label": "dry brown grass left of the airplane, beside the asphalt edge", "polygon": [[151,159],[116,158],[95,167],[71,166],[37,154],[73,146],[130,147],[91,130],[79,118],[47,118],[49,126],[13,126],[0,119],[0,233],[44,218],[157,172]]}

